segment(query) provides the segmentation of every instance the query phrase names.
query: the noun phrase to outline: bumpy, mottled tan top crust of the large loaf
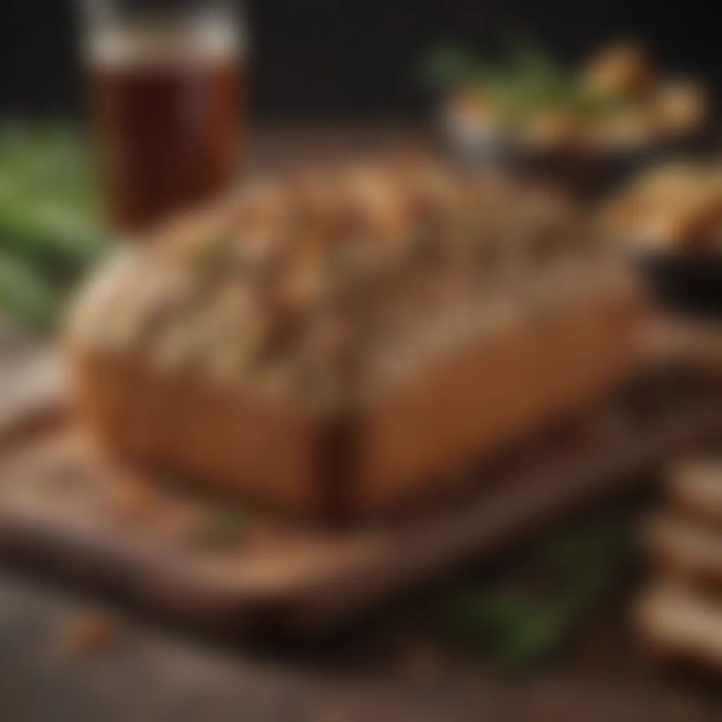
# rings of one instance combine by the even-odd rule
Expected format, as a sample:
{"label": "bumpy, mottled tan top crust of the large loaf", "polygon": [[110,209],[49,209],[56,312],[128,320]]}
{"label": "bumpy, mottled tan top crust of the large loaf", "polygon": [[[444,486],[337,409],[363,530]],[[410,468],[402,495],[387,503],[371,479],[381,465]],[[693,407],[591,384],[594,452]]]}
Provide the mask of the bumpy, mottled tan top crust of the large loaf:
{"label": "bumpy, mottled tan top crust of the large loaf", "polygon": [[72,328],[85,347],[324,406],[599,290],[604,259],[555,196],[385,159],[248,183],[124,248]]}

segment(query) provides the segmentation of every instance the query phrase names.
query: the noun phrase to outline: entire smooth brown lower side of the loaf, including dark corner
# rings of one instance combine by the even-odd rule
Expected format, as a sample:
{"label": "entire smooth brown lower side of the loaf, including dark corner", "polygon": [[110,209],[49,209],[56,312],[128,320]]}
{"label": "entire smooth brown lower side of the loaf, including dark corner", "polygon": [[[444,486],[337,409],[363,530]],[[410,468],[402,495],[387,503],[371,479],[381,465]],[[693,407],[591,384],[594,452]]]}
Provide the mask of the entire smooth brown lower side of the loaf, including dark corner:
{"label": "entire smooth brown lower side of the loaf, including dark corner", "polygon": [[78,413],[114,453],[290,513],[375,513],[620,383],[635,321],[628,299],[600,298],[511,326],[340,415],[72,341],[69,367]]}

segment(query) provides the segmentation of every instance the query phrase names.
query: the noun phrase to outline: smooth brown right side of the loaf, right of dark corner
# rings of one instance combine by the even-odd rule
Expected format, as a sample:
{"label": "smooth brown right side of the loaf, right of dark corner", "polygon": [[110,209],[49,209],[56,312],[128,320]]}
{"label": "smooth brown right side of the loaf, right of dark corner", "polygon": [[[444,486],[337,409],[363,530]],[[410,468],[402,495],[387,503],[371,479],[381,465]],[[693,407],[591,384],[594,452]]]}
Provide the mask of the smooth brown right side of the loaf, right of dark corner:
{"label": "smooth brown right side of the loaf, right of dark corner", "polygon": [[413,498],[419,482],[441,482],[599,398],[632,369],[634,327],[628,305],[599,301],[440,360],[371,410],[355,505]]}

